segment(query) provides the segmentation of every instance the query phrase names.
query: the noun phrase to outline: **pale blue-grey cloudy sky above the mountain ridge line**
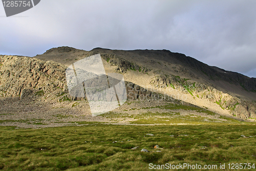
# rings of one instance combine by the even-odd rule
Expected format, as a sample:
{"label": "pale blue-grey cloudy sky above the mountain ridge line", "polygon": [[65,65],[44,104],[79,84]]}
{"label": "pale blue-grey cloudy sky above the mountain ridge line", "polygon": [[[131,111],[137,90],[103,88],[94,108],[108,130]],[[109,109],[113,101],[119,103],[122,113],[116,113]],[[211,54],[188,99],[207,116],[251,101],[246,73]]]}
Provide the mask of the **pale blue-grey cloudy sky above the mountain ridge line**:
{"label": "pale blue-grey cloudy sky above the mountain ridge line", "polygon": [[254,0],[41,0],[6,17],[0,4],[0,54],[167,49],[256,78],[255,9]]}

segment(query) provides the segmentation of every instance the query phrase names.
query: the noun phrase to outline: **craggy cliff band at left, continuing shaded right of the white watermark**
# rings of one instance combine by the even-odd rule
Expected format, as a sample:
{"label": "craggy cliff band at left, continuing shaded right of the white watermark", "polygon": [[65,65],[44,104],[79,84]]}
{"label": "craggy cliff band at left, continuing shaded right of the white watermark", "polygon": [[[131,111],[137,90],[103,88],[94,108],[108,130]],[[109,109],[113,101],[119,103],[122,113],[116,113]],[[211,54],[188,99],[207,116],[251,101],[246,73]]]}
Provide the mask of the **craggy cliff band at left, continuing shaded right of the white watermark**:
{"label": "craggy cliff band at left, continuing shaded right of the white watermark", "polygon": [[[58,101],[87,100],[73,97],[68,93],[65,71],[67,67],[53,61],[41,61],[25,56],[0,56],[0,96],[33,98],[54,93]],[[164,94],[147,90],[132,82],[125,81],[128,100],[169,101],[176,104],[195,106]],[[86,96],[86,92],[84,92]],[[94,99],[95,101],[100,100]]]}

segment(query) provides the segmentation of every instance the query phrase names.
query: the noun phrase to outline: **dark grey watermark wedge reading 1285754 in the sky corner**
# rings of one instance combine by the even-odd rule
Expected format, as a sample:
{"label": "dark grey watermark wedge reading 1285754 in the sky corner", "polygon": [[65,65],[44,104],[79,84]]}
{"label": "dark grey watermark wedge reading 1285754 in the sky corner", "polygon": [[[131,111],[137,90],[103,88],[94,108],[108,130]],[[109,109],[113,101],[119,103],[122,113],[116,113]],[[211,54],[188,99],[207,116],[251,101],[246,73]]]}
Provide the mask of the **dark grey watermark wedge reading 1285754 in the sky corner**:
{"label": "dark grey watermark wedge reading 1285754 in the sky corner", "polygon": [[36,6],[40,0],[27,0],[27,1],[6,1],[2,0],[6,16],[16,15],[18,13],[27,11]]}

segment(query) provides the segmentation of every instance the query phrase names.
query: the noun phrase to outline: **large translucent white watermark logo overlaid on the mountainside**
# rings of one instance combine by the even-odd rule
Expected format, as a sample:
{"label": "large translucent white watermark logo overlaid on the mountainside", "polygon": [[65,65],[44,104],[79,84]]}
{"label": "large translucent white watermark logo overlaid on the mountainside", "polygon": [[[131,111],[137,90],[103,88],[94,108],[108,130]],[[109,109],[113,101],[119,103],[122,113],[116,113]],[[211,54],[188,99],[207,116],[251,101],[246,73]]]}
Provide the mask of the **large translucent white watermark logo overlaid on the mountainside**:
{"label": "large translucent white watermark logo overlaid on the mountainside", "polygon": [[126,88],[122,74],[108,73],[100,54],[79,60],[66,69],[69,94],[87,98],[92,116],[118,108],[126,102]]}

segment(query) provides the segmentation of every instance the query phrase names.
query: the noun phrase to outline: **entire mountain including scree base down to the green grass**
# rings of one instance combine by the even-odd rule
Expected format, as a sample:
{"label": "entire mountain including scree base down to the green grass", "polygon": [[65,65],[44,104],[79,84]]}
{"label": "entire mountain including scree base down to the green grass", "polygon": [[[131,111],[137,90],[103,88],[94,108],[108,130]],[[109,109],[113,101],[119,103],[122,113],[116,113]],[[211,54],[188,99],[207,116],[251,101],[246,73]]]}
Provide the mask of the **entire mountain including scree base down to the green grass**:
{"label": "entire mountain including scree base down to the green grass", "polygon": [[[106,74],[122,73],[127,99],[136,100],[135,102],[140,104],[139,108],[135,107],[136,103],[129,102],[126,106],[115,109],[113,115],[107,113],[92,118],[88,116],[90,107],[87,100],[69,95],[65,77],[67,67],[97,53],[101,54]],[[212,75],[214,73],[215,75]],[[229,122],[220,116],[254,121],[254,91],[254,78],[210,67],[183,54],[167,50],[123,51],[95,48],[84,51],[59,47],[34,58],[0,55],[1,113],[23,113],[24,117],[27,117],[28,113],[37,113],[34,118],[39,119],[52,116],[53,118],[44,121],[44,124],[48,125],[56,125],[59,121],[58,115],[71,117],[68,120],[72,124],[76,122],[74,116],[81,115],[87,117],[80,118],[79,122],[151,123],[146,120],[148,117],[162,118],[159,123],[166,124],[176,123],[177,118],[193,123],[195,118],[200,120],[200,123]],[[157,107],[166,105],[190,107]],[[13,108],[10,109],[10,106]],[[153,115],[152,111],[156,113]],[[136,119],[135,113],[144,118]],[[14,116],[5,117],[12,121]],[[116,120],[116,117],[119,119]],[[30,123],[33,123],[33,120]]]}

